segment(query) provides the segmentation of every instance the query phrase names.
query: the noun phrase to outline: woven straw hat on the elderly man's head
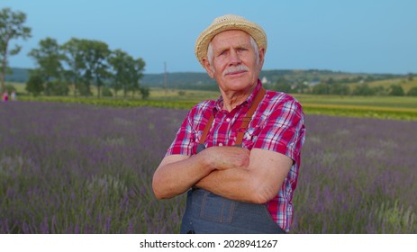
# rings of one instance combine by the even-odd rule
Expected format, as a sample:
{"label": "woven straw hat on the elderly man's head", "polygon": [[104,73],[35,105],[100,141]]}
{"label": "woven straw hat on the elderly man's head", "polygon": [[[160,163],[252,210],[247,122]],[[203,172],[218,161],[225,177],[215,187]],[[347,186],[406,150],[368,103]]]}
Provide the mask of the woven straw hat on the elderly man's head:
{"label": "woven straw hat on the elderly man's head", "polygon": [[203,67],[203,58],[207,55],[210,41],[220,32],[229,30],[240,30],[249,33],[257,42],[259,49],[263,48],[267,50],[267,34],[258,24],[250,22],[238,15],[222,15],[214,19],[213,23],[195,41],[195,57]]}

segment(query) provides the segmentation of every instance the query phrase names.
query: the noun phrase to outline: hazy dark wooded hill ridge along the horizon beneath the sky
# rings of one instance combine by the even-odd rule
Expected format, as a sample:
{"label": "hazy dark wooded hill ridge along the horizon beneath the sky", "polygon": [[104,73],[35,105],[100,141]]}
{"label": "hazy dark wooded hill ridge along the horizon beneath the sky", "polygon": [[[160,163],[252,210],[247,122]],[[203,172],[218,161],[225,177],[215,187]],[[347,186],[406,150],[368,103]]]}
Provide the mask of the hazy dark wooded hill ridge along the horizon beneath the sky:
{"label": "hazy dark wooded hill ridge along the horizon beneath the sky", "polygon": [[[13,73],[6,75],[5,80],[8,82],[26,83],[29,79],[29,69],[13,67]],[[167,77],[168,88],[176,89],[200,89],[200,90],[217,90],[217,85],[205,72],[177,72],[162,74],[144,74],[141,79],[141,85],[150,87],[164,87],[165,77]],[[339,83],[358,83],[360,80],[376,81],[405,77],[393,74],[366,74],[366,73],[346,73],[331,70],[264,70],[260,74],[260,79],[267,84],[274,84],[277,81],[285,79],[289,83],[318,83],[323,80],[329,80]]]}

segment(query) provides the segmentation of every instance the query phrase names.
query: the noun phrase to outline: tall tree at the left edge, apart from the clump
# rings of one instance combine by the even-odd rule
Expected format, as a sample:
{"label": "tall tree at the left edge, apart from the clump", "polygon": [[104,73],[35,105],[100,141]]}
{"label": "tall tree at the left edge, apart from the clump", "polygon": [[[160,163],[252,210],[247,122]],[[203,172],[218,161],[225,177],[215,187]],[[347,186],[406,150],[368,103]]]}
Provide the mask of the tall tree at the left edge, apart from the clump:
{"label": "tall tree at the left edge, apart from the clump", "polygon": [[22,49],[21,46],[15,45],[14,49],[9,49],[12,40],[31,37],[31,28],[23,26],[26,22],[26,14],[22,12],[13,12],[10,8],[4,8],[0,11],[0,58],[2,60],[2,90],[5,89],[5,71],[7,68],[8,56],[16,55]]}

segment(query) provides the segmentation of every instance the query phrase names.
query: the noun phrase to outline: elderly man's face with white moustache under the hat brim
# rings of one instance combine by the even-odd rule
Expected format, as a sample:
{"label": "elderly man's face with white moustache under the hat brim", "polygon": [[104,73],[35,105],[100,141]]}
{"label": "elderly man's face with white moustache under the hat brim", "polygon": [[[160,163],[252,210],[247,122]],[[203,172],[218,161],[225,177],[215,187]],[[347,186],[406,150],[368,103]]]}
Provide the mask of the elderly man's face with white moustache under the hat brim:
{"label": "elderly man's face with white moustache under the hat brim", "polygon": [[204,67],[224,92],[245,91],[257,84],[264,62],[265,49],[259,49],[259,60],[245,31],[222,31],[212,40],[213,60],[204,58]]}

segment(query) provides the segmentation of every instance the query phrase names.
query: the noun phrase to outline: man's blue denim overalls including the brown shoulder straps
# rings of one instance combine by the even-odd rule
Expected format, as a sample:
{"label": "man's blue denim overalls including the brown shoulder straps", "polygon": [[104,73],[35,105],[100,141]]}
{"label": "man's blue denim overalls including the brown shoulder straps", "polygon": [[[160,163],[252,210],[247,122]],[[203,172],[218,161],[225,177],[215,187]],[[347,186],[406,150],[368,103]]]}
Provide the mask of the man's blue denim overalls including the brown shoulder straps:
{"label": "man's blue denim overalls including the brown shoulder straps", "polygon": [[[265,95],[259,90],[254,102],[243,118],[235,145],[241,141],[253,112]],[[204,128],[197,153],[204,149],[204,140],[213,122],[213,115]],[[237,234],[283,234],[286,233],[272,219],[267,204],[238,202],[223,198],[204,189],[193,188],[187,192],[186,212],[181,223],[181,233],[237,233]]]}

